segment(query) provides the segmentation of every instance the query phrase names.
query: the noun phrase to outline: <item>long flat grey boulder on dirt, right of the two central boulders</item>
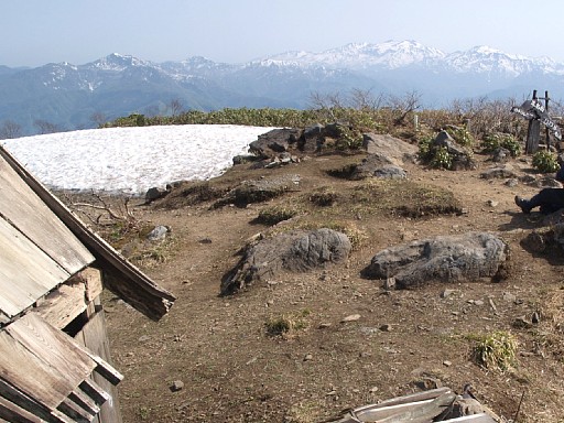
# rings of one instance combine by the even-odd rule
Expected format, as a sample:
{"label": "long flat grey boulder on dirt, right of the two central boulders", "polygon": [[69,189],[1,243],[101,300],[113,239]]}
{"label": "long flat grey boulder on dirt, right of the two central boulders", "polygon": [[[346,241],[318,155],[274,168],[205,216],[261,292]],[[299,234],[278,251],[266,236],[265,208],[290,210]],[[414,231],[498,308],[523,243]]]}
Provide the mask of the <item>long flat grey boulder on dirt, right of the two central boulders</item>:
{"label": "long flat grey boulder on dirt, right of the two central boulders", "polygon": [[393,279],[397,288],[429,282],[467,282],[505,279],[509,247],[488,232],[438,236],[388,248],[362,271],[369,279]]}

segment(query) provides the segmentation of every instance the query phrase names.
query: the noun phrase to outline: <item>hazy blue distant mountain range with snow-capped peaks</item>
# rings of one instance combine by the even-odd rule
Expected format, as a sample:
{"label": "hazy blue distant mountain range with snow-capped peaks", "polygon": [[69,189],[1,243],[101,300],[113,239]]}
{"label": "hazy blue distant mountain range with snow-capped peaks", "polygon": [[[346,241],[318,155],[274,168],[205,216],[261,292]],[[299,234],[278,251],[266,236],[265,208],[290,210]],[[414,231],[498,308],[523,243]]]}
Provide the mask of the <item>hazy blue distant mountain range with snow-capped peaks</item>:
{"label": "hazy blue distant mountain range with snow-capped peaks", "polygon": [[522,100],[532,89],[564,96],[564,64],[488,46],[444,53],[416,41],[351,43],[324,52],[285,52],[242,64],[205,57],[154,63],[110,54],[84,65],[36,68],[0,65],[0,126],[37,132],[37,121],[59,129],[93,128],[93,116],[166,113],[171,100],[186,109],[306,108],[311,95],[351,89],[401,96],[416,90],[425,107],[468,97]]}

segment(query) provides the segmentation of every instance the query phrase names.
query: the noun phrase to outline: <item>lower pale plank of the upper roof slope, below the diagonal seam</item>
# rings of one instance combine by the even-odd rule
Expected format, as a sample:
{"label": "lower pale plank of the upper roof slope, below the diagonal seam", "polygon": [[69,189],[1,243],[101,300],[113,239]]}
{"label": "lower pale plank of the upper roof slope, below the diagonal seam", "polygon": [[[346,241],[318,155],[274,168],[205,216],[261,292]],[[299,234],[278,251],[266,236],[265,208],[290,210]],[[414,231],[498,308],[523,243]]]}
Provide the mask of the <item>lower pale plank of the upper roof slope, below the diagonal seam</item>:
{"label": "lower pale plank of the upper roof slope, below the diagonal seam", "polygon": [[0,310],[12,317],[69,274],[0,217]]}

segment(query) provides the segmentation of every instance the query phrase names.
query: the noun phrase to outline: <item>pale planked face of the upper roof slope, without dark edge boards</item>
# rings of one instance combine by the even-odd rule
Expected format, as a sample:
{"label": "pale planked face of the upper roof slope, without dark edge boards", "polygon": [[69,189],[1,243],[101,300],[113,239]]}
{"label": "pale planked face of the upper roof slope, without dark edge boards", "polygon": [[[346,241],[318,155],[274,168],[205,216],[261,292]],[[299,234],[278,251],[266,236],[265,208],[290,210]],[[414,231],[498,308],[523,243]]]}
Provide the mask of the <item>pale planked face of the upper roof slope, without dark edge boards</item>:
{"label": "pale planked face of the upper roof slope, without dark edge boards", "polygon": [[95,257],[0,158],[0,322],[25,311]]}

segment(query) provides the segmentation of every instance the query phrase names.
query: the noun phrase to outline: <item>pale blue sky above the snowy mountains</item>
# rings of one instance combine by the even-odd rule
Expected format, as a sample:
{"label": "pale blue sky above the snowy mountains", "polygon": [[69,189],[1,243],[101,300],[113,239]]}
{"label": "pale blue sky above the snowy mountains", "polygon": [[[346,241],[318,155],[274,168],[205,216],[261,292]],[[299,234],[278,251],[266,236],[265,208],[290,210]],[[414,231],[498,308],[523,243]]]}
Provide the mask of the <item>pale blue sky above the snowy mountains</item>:
{"label": "pale blue sky above the snowy mountains", "polygon": [[110,53],[242,63],[388,40],[564,62],[562,0],[2,0],[0,10],[0,65],[12,67]]}

